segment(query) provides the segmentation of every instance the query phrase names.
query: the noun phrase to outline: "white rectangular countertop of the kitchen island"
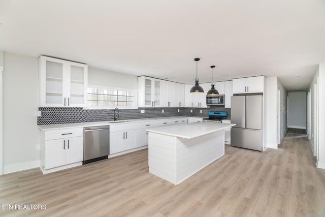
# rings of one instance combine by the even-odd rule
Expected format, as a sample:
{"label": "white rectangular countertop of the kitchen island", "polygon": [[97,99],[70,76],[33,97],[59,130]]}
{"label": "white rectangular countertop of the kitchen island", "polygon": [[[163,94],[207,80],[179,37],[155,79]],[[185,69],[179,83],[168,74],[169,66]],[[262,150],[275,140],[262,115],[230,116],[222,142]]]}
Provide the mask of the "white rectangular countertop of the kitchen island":
{"label": "white rectangular countertop of the kitchen island", "polygon": [[182,123],[180,125],[163,126],[147,129],[148,132],[165,134],[169,136],[191,139],[198,136],[203,136],[225,128],[235,126],[235,123],[216,123],[216,122],[193,122]]}

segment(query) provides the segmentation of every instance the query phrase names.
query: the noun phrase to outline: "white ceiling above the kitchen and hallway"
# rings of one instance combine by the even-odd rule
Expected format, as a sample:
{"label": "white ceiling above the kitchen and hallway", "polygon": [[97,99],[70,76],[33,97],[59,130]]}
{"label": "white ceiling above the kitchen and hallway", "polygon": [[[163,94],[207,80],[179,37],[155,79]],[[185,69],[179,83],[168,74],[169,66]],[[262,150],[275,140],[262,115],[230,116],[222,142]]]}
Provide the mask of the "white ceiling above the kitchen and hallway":
{"label": "white ceiling above the kitchen and hallway", "polygon": [[0,23],[0,50],[183,83],[200,57],[200,82],[216,65],[307,89],[325,62],[323,0],[0,0]]}

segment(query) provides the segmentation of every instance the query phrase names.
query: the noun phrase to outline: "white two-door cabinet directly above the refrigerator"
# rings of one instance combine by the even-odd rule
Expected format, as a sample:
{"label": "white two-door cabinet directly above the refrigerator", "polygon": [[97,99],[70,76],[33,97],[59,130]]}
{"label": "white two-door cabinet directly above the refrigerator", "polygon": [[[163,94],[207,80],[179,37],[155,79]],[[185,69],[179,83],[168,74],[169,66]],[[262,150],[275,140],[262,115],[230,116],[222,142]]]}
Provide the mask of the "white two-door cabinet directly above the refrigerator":
{"label": "white two-door cabinet directly above the refrigerator", "polygon": [[264,76],[233,79],[233,94],[264,92]]}

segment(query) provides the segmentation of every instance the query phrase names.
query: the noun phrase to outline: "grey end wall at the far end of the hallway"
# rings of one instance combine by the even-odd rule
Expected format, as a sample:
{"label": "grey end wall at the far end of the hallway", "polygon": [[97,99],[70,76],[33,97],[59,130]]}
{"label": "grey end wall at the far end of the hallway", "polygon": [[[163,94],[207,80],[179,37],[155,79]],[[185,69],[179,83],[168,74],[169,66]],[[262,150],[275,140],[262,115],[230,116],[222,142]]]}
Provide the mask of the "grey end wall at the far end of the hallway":
{"label": "grey end wall at the far end of the hallway", "polygon": [[306,129],[307,92],[288,92],[288,128]]}

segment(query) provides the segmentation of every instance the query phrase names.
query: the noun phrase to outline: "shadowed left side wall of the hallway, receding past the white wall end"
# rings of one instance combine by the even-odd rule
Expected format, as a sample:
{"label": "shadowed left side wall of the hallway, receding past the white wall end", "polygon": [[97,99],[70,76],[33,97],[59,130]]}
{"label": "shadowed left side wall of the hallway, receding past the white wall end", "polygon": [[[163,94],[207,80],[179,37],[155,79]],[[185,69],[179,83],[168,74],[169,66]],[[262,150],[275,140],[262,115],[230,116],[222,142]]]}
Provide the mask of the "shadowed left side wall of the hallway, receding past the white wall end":
{"label": "shadowed left side wall of the hallway, receding past the white wall end", "polygon": [[278,89],[280,89],[280,138],[284,138],[286,132],[286,96],[287,91],[277,79]]}

